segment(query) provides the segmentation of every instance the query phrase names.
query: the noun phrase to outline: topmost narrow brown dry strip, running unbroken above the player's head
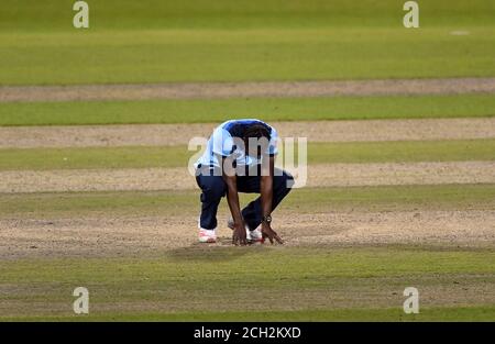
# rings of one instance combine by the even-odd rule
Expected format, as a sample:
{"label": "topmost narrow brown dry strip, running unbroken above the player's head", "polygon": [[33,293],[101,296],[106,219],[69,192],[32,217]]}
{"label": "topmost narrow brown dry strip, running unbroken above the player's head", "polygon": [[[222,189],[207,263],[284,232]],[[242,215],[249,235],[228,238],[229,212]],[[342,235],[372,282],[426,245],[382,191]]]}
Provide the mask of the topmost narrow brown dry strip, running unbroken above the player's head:
{"label": "topmost narrow brown dry strip, running unbroken above the player's head", "polygon": [[0,102],[493,93],[495,78],[4,86]]}

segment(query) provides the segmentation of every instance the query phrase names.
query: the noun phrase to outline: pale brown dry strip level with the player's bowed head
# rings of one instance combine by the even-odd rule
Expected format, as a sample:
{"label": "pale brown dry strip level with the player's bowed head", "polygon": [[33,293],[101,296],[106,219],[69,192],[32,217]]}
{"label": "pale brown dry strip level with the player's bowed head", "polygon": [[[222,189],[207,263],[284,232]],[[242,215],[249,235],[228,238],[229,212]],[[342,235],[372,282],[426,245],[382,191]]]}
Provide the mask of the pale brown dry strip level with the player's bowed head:
{"label": "pale brown dry strip level with the player's bowed head", "polygon": [[[475,140],[495,137],[495,118],[273,122],[280,137],[310,142]],[[0,148],[168,146],[208,138],[212,123],[0,127]]]}

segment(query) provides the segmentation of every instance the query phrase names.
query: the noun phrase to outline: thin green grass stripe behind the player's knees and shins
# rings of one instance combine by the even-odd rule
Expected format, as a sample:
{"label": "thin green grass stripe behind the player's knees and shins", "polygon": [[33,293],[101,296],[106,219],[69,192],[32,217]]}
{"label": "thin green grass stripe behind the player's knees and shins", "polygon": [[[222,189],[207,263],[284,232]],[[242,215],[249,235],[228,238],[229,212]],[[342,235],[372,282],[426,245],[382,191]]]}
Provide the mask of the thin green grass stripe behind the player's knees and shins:
{"label": "thin green grass stripe behind the player's knees and shins", "polygon": [[[180,215],[198,211],[198,190],[3,193],[1,218],[76,214]],[[241,193],[248,203],[255,196]],[[495,185],[431,185],[304,188],[292,191],[277,211],[300,213],[398,210],[495,209]]]}

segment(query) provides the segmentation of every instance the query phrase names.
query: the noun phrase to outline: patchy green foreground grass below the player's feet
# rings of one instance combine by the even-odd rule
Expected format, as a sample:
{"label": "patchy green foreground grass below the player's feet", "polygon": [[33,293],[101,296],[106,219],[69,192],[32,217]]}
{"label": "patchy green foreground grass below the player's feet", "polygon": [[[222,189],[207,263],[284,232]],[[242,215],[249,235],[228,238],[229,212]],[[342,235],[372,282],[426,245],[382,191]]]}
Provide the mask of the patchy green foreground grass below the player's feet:
{"label": "patchy green foreground grass below the player's feet", "polygon": [[[462,288],[493,287],[493,265],[486,262],[494,259],[493,251],[472,249],[190,247],[156,258],[9,262],[0,276],[18,288],[8,303],[25,307],[7,319],[46,314],[36,304],[50,299],[58,318],[91,320],[70,315],[67,307],[72,286],[84,285],[91,290],[95,320],[493,320],[493,306],[455,310],[438,303]],[[441,291],[443,284],[453,287]],[[437,304],[431,313],[428,308],[420,315],[400,312],[409,285],[425,291],[424,302]],[[140,311],[146,304],[163,311]]]}

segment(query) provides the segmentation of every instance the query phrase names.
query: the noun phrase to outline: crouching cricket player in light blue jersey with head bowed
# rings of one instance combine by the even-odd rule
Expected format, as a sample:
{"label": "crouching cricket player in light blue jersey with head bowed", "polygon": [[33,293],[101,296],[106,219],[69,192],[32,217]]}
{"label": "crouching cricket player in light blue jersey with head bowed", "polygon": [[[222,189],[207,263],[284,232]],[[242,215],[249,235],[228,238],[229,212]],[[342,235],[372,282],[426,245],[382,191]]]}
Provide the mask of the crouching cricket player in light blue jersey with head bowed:
{"label": "crouching cricket player in light blue jersey with head bowed", "polygon": [[[294,185],[293,177],[275,168],[277,132],[260,120],[232,120],[220,124],[207,148],[195,164],[196,181],[201,188],[199,242],[217,241],[217,210],[227,196],[232,218],[232,243],[245,245],[264,242],[283,244],[272,229],[272,211]],[[240,209],[238,192],[255,192],[260,197]]]}

